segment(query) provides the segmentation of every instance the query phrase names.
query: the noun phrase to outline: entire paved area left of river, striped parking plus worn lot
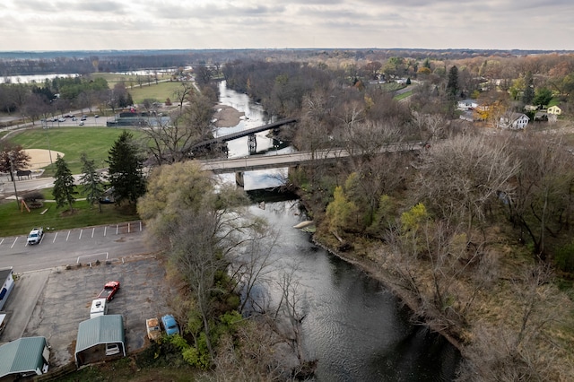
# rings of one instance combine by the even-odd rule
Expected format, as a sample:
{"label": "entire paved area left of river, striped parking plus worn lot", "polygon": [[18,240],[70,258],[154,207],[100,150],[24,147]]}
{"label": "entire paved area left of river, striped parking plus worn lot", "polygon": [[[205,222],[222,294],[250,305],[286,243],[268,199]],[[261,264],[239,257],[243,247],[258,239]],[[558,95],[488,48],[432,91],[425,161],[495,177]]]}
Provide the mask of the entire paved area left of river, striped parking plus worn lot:
{"label": "entire paved area left of river, striped parking plus worn lot", "polygon": [[161,259],[145,244],[144,226],[129,226],[49,232],[35,246],[0,238],[0,267],[13,266],[16,278],[0,343],[41,335],[51,346],[52,368],[74,362],[78,325],[90,318],[91,301],[106,282],[119,281],[108,313],[124,317],[127,352],[146,346],[145,319],[174,313],[173,291]]}

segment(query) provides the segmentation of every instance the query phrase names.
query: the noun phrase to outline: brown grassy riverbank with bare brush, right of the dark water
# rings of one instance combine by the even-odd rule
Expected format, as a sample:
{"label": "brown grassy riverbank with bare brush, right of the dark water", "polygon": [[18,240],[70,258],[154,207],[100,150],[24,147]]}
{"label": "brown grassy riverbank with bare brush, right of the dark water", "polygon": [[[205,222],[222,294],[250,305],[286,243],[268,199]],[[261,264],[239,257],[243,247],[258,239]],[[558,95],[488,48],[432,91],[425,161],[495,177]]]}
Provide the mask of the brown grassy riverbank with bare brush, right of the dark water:
{"label": "brown grassy riverbank with bare brush, right of the dark water", "polygon": [[[396,254],[378,240],[347,236],[345,249],[338,250],[341,242],[320,219],[315,221],[318,247],[385,284],[411,309],[416,322],[458,349],[463,357],[461,380],[500,380],[509,372],[574,380],[574,303],[559,288],[560,281],[533,265],[526,248],[510,245],[502,232],[489,237],[491,249],[482,254],[492,262],[491,271],[476,268],[443,280],[429,262]],[[448,296],[445,305],[436,305],[437,288]]]}

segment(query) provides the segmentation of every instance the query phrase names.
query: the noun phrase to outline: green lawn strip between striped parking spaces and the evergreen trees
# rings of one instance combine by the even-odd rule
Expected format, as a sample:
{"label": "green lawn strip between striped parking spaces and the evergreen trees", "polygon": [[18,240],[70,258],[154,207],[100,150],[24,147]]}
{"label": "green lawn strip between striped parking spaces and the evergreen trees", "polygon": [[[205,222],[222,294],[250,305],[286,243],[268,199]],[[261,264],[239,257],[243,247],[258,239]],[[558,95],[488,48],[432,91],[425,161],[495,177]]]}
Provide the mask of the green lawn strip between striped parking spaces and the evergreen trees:
{"label": "green lawn strip between striped parking spaces and the evergreen trees", "polygon": [[[52,197],[50,190],[42,190],[45,197]],[[43,213],[46,209],[46,213]],[[139,217],[133,207],[117,207],[114,204],[102,204],[102,212],[98,206],[92,208],[86,201],[74,203],[74,212],[68,208],[56,208],[56,203],[45,202],[38,209],[21,209],[15,200],[4,201],[0,204],[0,237],[25,235],[32,227],[44,227],[54,230],[67,230],[76,227],[89,227],[100,224],[111,224],[119,221],[135,221]]]}

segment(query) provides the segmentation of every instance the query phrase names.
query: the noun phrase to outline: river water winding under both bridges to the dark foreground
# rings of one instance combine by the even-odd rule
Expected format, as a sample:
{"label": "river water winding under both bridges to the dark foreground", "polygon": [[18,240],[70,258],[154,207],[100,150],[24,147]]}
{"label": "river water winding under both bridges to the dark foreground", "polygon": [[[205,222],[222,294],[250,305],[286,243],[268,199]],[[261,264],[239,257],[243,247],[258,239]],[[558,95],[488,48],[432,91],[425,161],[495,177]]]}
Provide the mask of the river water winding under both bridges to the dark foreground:
{"label": "river water winding under both bridges to the dark foreground", "polygon": [[[266,123],[259,105],[220,84],[220,102],[246,113],[238,126],[216,135]],[[272,139],[257,136],[262,154],[273,155]],[[271,141],[271,142],[270,142]],[[281,149],[285,152],[291,148]],[[282,151],[279,151],[282,152]],[[248,155],[247,138],[230,143],[230,156]],[[279,170],[280,172],[283,170]],[[286,171],[286,169],[285,169]],[[232,181],[232,180],[230,180]],[[246,190],[281,185],[268,170],[245,174]],[[414,326],[410,311],[380,282],[314,245],[309,233],[292,228],[305,220],[297,201],[254,205],[250,213],[265,217],[281,232],[274,248],[274,280],[296,268],[300,285],[303,345],[307,359],[317,359],[317,381],[449,381],[460,360],[457,350],[424,326]],[[267,285],[272,300],[280,292]]]}

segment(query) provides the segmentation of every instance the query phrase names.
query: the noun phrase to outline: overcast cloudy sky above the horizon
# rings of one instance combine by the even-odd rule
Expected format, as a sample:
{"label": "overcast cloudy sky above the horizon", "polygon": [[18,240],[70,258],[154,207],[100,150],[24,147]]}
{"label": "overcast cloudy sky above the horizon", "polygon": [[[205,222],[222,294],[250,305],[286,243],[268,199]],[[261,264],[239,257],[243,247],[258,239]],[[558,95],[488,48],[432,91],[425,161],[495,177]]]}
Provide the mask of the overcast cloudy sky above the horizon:
{"label": "overcast cloudy sky above the horizon", "polygon": [[574,0],[0,0],[0,50],[574,49]]}

